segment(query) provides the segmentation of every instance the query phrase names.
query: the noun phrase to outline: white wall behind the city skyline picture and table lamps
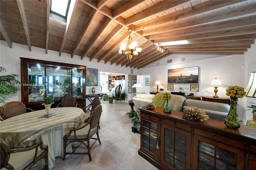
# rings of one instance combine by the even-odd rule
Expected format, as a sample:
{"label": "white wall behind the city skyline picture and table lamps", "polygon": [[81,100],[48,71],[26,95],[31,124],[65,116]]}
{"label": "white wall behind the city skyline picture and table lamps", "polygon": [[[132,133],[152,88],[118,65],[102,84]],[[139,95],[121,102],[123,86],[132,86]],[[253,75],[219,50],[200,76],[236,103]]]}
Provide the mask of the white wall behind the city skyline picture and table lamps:
{"label": "white wall behind the city skyline picture and table lamps", "polygon": [[[252,51],[249,51],[252,50]],[[256,68],[255,65],[255,44],[252,45],[251,49],[248,49],[249,54],[244,55],[228,55],[228,56],[207,56],[207,59],[204,59],[204,55],[170,55],[160,61],[152,63],[146,68],[138,69],[138,75],[151,74],[150,80],[150,90],[156,91],[156,85],[154,82],[158,79],[161,83],[159,86],[167,92],[167,75],[168,69],[176,69],[183,67],[194,67],[199,66],[199,92],[196,92],[196,95],[202,96],[204,91],[209,91],[214,94],[214,87],[210,86],[212,79],[217,77],[220,79],[222,86],[218,87],[217,95],[219,97],[228,97],[226,96],[226,88],[230,85],[239,85],[245,88],[248,83],[247,72],[243,69],[247,67],[248,63],[254,63],[252,67]],[[250,56],[248,56],[250,55]],[[183,58],[183,59],[182,59]],[[247,58],[250,58],[249,61],[246,61]],[[167,60],[172,59],[171,64],[167,64]],[[185,60],[184,60],[185,59]],[[193,61],[195,59],[196,61]],[[189,60],[189,62],[188,62]],[[151,66],[151,67],[150,67]],[[256,71],[256,69],[254,69]],[[246,77],[246,80],[245,78]],[[190,84],[174,84],[175,92],[180,91],[179,87],[190,89]],[[171,91],[168,91],[171,92]],[[246,97],[239,99],[238,101],[238,115],[240,120],[244,123],[248,119],[244,119],[244,111],[247,109],[244,100]],[[248,104],[247,104],[248,106]]]}

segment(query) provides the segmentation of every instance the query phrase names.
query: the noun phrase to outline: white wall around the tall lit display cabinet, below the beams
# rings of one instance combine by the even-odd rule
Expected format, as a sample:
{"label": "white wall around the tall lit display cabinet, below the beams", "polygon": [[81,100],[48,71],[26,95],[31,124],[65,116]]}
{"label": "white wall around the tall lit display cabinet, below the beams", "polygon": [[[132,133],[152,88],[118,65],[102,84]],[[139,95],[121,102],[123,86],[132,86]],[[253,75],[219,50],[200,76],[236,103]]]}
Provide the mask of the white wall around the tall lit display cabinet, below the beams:
{"label": "white wall around the tall lit display cabinet, below the beams", "polygon": [[[104,64],[104,61],[100,61],[98,63],[97,59],[93,59],[90,62],[88,57],[85,57],[81,60],[81,56],[75,55],[71,58],[70,54],[62,53],[59,57],[58,51],[48,50],[48,54],[45,54],[45,49],[32,47],[32,50],[28,50],[27,45],[13,43],[12,48],[10,48],[6,41],[0,41],[0,66],[7,69],[7,72],[2,73],[3,75],[7,74],[18,74],[20,73],[20,57],[24,58],[31,58],[31,59],[41,59],[46,61],[56,61],[60,63],[70,63],[70,64],[77,64],[77,65],[85,65],[88,68],[98,69],[98,77],[100,77],[100,71],[110,72],[110,73],[122,73],[126,74],[125,84],[128,85],[128,74],[130,74],[129,67],[121,67],[116,66],[115,64],[110,65],[110,62]],[[137,69],[134,69],[134,75],[136,75]],[[18,77],[20,80],[20,76]],[[98,81],[98,85],[100,81]],[[92,87],[86,87],[86,94],[91,93]],[[96,87],[96,93],[99,93],[99,86]],[[125,92],[128,93],[128,87],[125,88]],[[128,100],[131,100],[134,97],[134,94],[128,94]],[[21,101],[21,92],[19,91],[18,96],[14,96],[8,101]],[[6,101],[6,102],[8,102]]]}

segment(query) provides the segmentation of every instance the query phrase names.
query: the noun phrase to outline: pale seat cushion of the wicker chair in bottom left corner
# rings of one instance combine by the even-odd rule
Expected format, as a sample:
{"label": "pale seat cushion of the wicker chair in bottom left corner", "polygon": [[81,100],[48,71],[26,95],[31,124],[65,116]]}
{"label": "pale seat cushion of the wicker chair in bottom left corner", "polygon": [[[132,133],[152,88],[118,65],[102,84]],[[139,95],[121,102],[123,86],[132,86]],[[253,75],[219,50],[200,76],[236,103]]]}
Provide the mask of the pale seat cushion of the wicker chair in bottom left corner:
{"label": "pale seat cushion of the wicker chair in bottom left corner", "polygon": [[[11,164],[15,170],[23,170],[28,166],[31,162],[34,160],[35,151],[36,148],[32,150],[28,150],[26,152],[16,152],[10,154],[10,159],[8,161],[9,164]],[[41,150],[40,147],[38,147],[38,156],[42,154],[44,150]]]}

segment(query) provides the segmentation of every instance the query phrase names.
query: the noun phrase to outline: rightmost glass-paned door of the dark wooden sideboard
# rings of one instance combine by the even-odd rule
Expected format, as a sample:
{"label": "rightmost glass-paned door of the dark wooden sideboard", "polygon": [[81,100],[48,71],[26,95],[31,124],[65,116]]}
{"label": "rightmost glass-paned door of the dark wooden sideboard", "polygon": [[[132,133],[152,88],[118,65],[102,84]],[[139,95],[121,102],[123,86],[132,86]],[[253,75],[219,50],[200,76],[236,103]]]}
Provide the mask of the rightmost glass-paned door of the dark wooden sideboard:
{"label": "rightmost glass-paned door of the dark wooden sideboard", "polygon": [[[198,170],[240,170],[245,168],[245,153],[232,146],[222,144],[201,136],[194,136],[194,163]],[[237,162],[240,162],[237,164]],[[196,167],[196,166],[195,166]]]}

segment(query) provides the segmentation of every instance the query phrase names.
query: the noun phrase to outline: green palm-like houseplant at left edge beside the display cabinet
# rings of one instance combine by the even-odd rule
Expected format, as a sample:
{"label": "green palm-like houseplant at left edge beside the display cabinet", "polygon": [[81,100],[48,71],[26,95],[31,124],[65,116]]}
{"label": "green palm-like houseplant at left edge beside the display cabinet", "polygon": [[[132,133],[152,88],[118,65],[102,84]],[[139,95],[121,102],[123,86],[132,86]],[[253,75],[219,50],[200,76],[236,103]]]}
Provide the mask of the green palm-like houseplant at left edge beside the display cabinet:
{"label": "green palm-like houseplant at left edge beside the display cabinet", "polygon": [[[0,67],[0,73],[6,72],[4,67]],[[16,95],[20,90],[18,85],[20,81],[16,79],[17,74],[1,75],[0,76],[0,103],[7,100],[8,97]]]}

